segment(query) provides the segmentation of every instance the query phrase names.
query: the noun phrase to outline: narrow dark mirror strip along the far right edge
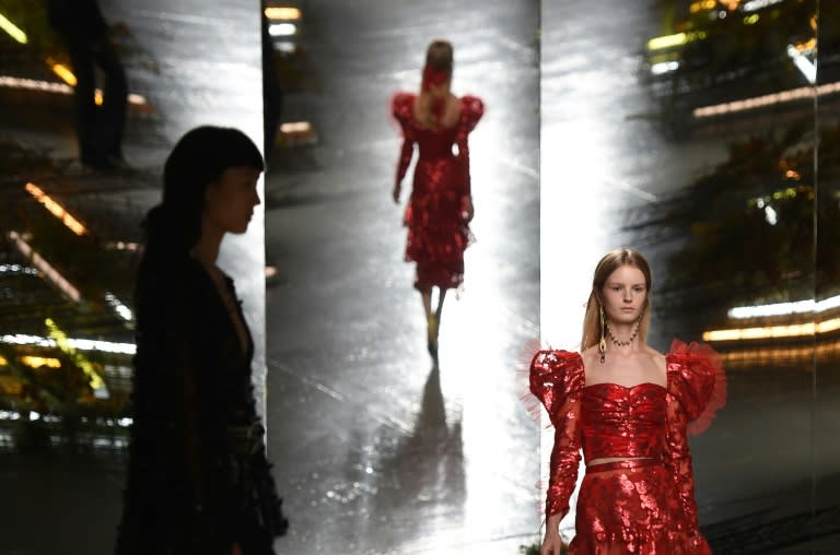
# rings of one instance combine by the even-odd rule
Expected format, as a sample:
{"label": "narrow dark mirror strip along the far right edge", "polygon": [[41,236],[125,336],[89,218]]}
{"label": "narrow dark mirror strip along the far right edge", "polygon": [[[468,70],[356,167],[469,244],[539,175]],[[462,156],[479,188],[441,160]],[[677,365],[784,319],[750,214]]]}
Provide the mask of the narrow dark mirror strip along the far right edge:
{"label": "narrow dark mirror strip along the far right edge", "polygon": [[840,551],[840,4],[819,3],[813,548]]}

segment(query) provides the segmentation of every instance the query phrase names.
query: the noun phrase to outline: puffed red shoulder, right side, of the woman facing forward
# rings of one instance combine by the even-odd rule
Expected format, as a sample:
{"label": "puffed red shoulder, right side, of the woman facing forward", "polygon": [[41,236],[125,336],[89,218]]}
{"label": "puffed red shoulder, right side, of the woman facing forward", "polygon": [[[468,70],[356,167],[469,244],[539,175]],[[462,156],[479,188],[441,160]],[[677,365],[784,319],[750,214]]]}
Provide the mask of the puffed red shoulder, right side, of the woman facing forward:
{"label": "puffed red shoulder, right side, of the woman facing forward", "polygon": [[726,405],[726,375],[721,355],[705,343],[675,339],[666,361],[668,392],[686,411],[688,434],[701,434]]}

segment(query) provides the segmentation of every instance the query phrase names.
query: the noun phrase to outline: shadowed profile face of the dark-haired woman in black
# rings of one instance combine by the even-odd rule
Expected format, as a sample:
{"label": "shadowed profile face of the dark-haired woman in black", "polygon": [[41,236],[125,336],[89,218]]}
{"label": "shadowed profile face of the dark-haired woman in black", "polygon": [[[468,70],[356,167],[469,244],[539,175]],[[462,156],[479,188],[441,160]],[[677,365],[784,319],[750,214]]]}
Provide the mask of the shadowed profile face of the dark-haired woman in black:
{"label": "shadowed profile face of the dark-haired woman in black", "polygon": [[259,204],[257,180],[261,173],[245,166],[225,169],[218,181],[207,187],[206,224],[225,233],[245,233],[254,215],[254,206]]}

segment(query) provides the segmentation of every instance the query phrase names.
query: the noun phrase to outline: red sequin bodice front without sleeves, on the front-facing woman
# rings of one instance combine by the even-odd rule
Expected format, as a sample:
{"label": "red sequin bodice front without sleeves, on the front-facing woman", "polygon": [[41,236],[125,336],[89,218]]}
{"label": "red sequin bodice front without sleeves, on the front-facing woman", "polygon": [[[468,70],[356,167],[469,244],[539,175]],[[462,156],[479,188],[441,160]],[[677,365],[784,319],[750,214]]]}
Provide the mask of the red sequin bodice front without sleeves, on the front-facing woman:
{"label": "red sequin bodice front without sleeves, on the front-facing woman", "polygon": [[583,388],[581,424],[586,461],[608,457],[658,459],[665,440],[666,389],[594,383]]}

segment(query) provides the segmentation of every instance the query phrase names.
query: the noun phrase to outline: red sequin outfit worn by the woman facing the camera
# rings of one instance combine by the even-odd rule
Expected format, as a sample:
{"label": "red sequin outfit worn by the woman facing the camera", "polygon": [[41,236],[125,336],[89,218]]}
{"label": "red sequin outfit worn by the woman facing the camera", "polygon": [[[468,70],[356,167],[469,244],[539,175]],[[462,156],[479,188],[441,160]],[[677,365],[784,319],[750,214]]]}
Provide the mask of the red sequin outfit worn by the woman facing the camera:
{"label": "red sequin outfit worn by the woman facing the camera", "polygon": [[586,469],[578,495],[570,554],[705,555],[700,534],[688,435],[699,434],[725,404],[720,357],[703,344],[675,340],[666,355],[667,387],[585,385],[583,359],[539,351],[530,391],[555,426],[546,516],[565,515],[585,461],[648,458]]}

